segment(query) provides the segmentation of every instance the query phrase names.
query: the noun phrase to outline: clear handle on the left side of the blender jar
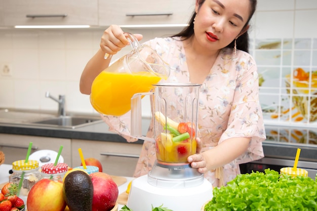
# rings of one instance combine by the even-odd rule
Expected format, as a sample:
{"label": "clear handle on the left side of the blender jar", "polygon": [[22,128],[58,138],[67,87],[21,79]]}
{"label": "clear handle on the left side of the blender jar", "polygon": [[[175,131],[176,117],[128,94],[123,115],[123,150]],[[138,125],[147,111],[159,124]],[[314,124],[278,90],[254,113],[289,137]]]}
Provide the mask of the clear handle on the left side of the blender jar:
{"label": "clear handle on the left side of the blender jar", "polygon": [[131,136],[145,141],[155,142],[153,138],[142,136],[142,109],[141,97],[153,95],[153,92],[136,93],[131,98]]}

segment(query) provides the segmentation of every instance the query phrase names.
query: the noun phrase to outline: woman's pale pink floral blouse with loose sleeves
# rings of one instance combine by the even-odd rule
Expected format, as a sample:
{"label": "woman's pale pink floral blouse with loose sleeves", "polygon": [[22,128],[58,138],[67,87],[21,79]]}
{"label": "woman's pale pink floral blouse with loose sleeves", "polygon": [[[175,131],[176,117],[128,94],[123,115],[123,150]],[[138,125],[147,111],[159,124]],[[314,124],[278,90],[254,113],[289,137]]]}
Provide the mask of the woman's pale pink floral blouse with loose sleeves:
{"label": "woman's pale pink floral blouse with loose sleeves", "polygon": [[[167,82],[190,82],[186,55],[178,37],[154,38],[145,43],[170,64]],[[250,137],[248,150],[232,162],[205,174],[214,187],[226,185],[240,174],[240,163],[264,156],[262,141],[265,130],[259,104],[257,66],[252,56],[243,51],[223,49],[200,88],[198,137],[203,141],[203,151],[233,137]],[[130,134],[130,112],[122,116],[103,116],[110,130],[125,137]],[[152,137],[150,125],[147,137]],[[225,152],[224,152],[225,153]],[[155,144],[144,141],[134,177],[147,174],[156,159]]]}

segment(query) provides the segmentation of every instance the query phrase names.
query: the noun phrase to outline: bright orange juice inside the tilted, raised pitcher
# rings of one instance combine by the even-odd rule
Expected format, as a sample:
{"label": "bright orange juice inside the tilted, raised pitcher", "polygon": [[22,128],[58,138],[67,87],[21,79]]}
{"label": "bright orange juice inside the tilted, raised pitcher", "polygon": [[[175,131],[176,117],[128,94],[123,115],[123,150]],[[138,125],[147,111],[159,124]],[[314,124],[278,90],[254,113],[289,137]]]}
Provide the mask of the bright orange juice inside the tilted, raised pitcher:
{"label": "bright orange juice inside the tilted, raised pitcher", "polygon": [[136,93],[149,92],[161,77],[150,72],[102,71],[94,80],[90,102],[101,114],[120,116],[131,110],[131,98]]}

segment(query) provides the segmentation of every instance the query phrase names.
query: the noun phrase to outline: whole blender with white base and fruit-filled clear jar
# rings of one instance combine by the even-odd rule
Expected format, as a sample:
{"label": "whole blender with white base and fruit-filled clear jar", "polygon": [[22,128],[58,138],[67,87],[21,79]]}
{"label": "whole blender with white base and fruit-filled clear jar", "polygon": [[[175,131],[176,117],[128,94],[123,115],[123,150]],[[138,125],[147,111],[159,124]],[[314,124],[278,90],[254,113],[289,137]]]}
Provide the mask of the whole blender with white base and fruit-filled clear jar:
{"label": "whole blender with white base and fruit-filled clear jar", "polygon": [[[213,196],[212,184],[192,168],[187,157],[196,153],[200,84],[159,83],[153,92],[131,99],[131,135],[155,142],[156,161],[151,171],[132,181],[127,206],[148,211],[161,206],[174,211],[200,211]],[[141,98],[153,100],[153,138],[141,133]]]}

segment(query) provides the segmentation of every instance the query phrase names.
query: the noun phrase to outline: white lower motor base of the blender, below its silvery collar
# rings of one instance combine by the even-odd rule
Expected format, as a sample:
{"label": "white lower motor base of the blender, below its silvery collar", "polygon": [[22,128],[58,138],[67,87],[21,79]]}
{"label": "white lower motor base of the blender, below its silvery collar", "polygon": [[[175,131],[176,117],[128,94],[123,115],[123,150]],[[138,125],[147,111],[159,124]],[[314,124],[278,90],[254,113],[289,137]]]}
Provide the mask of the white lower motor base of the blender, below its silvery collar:
{"label": "white lower motor base of the blender, below its silvery collar", "polygon": [[[157,166],[158,163],[152,170]],[[127,206],[132,210],[148,211],[152,206],[158,207],[163,204],[163,207],[173,211],[201,211],[203,205],[212,199],[213,187],[202,174],[196,172],[191,175],[190,167],[188,164],[187,166],[184,169],[190,175],[187,179],[171,179],[168,175],[165,177],[166,179],[164,177],[155,178],[151,174],[152,171],[148,175],[134,179]],[[159,171],[164,173],[161,168]],[[179,167],[176,167],[174,171],[180,171],[179,175],[185,173]]]}

